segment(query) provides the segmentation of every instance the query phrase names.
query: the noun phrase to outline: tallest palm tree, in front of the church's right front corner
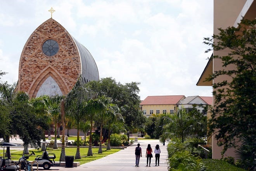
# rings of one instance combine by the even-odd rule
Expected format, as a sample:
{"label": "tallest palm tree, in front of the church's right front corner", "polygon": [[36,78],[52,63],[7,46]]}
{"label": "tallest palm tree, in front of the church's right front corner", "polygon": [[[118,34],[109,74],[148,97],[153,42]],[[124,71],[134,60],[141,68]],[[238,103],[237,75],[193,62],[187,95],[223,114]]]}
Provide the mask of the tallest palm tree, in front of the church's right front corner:
{"label": "tallest palm tree, in front of the church's right front corner", "polygon": [[77,148],[75,159],[81,159],[80,155],[80,122],[85,120],[86,101],[92,97],[92,92],[86,87],[82,77],[78,79],[73,89],[67,94],[65,102],[66,116],[73,120],[77,129]]}

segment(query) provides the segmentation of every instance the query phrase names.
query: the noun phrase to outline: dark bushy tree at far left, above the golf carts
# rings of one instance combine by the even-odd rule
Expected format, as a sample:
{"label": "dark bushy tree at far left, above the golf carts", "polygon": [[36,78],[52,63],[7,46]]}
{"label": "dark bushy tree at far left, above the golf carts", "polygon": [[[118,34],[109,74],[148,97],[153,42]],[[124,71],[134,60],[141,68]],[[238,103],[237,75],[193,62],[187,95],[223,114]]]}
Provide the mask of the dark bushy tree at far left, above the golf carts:
{"label": "dark bushy tree at far left, above the golf carts", "polygon": [[5,142],[9,142],[10,136],[19,135],[24,145],[40,146],[43,129],[47,128],[47,124],[42,117],[35,114],[28,94],[15,92],[15,87],[15,84],[9,85],[7,82],[0,84],[0,108],[3,109],[0,112],[1,118],[5,119],[0,121],[1,126],[5,126],[0,136]]}

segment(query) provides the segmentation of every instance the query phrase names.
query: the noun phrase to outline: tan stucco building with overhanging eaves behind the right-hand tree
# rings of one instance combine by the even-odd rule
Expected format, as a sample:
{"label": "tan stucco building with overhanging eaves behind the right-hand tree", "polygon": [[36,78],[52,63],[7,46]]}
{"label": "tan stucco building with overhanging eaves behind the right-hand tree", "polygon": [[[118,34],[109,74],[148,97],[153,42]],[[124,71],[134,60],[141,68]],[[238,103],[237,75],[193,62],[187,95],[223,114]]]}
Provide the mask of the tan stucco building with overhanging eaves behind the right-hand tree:
{"label": "tan stucco building with overhanging eaves behind the right-hand tree", "polygon": [[[245,19],[253,20],[256,18],[256,1],[255,0],[214,0],[214,19],[213,19],[213,34],[218,35],[218,28],[226,29],[229,26],[237,27],[237,23],[244,17]],[[213,55],[227,55],[228,50],[213,51]],[[214,79],[213,82],[205,81],[214,71],[222,70],[222,63],[220,59],[211,59],[208,61],[197,86],[212,86],[213,82],[218,83],[223,80],[231,80],[231,78],[225,76],[219,76]],[[233,69],[227,67],[226,69]],[[214,97],[213,97],[214,98]],[[214,100],[214,99],[213,99]],[[208,116],[209,117],[209,116]],[[221,158],[221,151],[223,147],[218,147],[217,140],[212,138],[212,151],[213,159]],[[224,157],[235,157],[234,149],[228,149],[224,154]]]}

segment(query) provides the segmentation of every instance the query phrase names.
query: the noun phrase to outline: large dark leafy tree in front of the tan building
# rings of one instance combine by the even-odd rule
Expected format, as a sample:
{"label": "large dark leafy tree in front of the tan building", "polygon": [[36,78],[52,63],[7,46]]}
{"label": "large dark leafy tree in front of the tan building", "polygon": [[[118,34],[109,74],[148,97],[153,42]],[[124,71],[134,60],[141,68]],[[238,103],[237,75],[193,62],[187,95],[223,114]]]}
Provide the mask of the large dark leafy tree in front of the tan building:
{"label": "large dark leafy tree in front of the tan building", "polygon": [[[209,135],[215,135],[223,145],[223,153],[244,139],[256,147],[256,20],[242,19],[239,26],[219,29],[218,35],[204,38],[213,50],[228,51],[227,55],[213,55],[222,61],[223,69],[214,71],[208,81],[227,76],[229,80],[213,82],[214,108],[209,120]],[[214,40],[214,41],[213,41]],[[207,50],[209,52],[211,49]],[[232,66],[234,69],[228,69]],[[255,155],[254,155],[255,156]],[[255,157],[254,157],[255,158]]]}

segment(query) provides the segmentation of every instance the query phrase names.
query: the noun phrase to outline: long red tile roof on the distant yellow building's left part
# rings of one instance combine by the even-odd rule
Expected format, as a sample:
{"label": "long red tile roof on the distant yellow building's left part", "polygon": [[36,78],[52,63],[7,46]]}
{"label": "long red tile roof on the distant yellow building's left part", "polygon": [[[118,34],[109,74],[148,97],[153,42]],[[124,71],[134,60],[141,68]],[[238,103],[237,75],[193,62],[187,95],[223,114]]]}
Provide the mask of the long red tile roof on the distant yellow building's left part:
{"label": "long red tile roof on the distant yellow building's left part", "polygon": [[170,105],[177,104],[179,100],[183,100],[184,95],[173,96],[148,96],[143,100],[140,105]]}

